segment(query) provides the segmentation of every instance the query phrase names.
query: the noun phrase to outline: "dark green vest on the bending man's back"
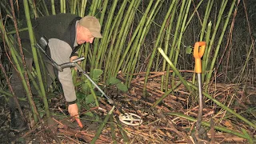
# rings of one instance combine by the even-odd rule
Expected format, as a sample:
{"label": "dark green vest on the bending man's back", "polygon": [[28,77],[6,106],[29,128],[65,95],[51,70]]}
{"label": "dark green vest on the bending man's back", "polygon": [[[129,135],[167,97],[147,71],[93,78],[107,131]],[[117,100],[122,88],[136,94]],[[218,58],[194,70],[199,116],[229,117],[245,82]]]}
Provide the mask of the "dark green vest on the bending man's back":
{"label": "dark green vest on the bending man's back", "polygon": [[[46,36],[48,39],[57,38],[67,42],[73,50],[72,55],[74,55],[74,52],[78,50],[78,46],[74,47],[74,40],[76,36],[75,24],[79,19],[81,17],[74,14],[56,14],[31,19],[34,36],[37,42],[42,36]],[[20,33],[20,36],[23,41],[30,39],[28,31]]]}

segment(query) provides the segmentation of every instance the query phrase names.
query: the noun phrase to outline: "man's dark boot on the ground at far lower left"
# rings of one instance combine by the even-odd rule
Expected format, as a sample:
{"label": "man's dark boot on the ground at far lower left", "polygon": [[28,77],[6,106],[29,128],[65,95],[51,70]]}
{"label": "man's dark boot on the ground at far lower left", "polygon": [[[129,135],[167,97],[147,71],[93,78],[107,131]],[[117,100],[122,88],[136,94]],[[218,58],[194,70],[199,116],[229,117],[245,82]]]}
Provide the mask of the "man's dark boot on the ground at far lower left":
{"label": "man's dark boot on the ground at far lower left", "polygon": [[22,120],[22,116],[17,109],[10,110],[10,130],[16,132],[26,130],[26,122]]}

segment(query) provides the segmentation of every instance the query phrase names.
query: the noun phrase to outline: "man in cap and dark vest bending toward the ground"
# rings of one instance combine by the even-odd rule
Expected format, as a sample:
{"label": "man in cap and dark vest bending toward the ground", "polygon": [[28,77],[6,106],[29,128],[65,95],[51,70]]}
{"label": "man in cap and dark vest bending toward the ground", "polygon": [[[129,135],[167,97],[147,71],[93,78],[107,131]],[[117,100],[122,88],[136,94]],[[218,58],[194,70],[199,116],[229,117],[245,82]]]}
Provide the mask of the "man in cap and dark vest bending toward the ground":
{"label": "man in cap and dark vest bending toward the ground", "polygon": [[[78,46],[85,42],[92,43],[94,38],[102,38],[101,25],[97,18],[92,16],[86,16],[80,18],[74,14],[57,14],[47,17],[37,18],[32,21],[34,28],[34,34],[38,40],[42,36],[48,38],[49,49],[51,58],[57,62],[58,65],[65,62],[72,62],[75,58],[78,58],[78,54],[75,53],[78,50]],[[33,57],[30,52],[30,40],[27,32],[20,33],[22,39],[22,47],[24,50],[26,65],[30,69],[33,62]],[[46,57],[44,57],[46,58]],[[53,67],[49,65],[49,60],[45,59],[46,69],[48,74],[53,73]],[[47,62],[48,61],[48,62]],[[72,80],[72,74],[70,68],[66,68],[63,72],[58,72],[59,82],[62,84],[62,89],[66,102],[68,103],[68,112],[71,117],[78,115],[78,106],[76,104],[76,94],[74,90],[74,84]],[[17,82],[17,80],[19,82]],[[11,78],[12,86],[14,87],[14,93],[18,98],[24,97],[22,84],[18,78],[18,74],[13,70],[13,77]],[[50,77],[47,78],[47,85],[51,83]],[[19,118],[17,106],[13,99],[10,99],[10,127],[12,130],[21,131],[26,128],[25,122]],[[21,103],[22,104],[22,103]]]}

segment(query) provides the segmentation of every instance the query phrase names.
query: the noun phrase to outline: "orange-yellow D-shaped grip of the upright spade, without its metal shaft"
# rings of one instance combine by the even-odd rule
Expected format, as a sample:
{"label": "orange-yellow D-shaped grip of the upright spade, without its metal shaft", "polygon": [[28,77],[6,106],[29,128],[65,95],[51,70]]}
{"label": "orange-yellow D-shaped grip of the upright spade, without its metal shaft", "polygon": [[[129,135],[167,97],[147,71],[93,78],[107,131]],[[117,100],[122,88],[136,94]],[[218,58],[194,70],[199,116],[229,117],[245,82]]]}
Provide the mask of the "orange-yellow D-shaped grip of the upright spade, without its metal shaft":
{"label": "orange-yellow D-shaped grip of the upright spade, without its metal shaft", "polygon": [[[199,50],[199,46],[201,46]],[[206,42],[196,42],[194,44],[194,60],[195,60],[195,72],[202,73],[201,58],[205,52]]]}

